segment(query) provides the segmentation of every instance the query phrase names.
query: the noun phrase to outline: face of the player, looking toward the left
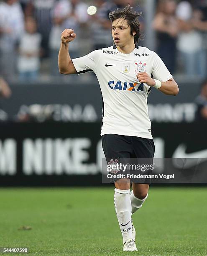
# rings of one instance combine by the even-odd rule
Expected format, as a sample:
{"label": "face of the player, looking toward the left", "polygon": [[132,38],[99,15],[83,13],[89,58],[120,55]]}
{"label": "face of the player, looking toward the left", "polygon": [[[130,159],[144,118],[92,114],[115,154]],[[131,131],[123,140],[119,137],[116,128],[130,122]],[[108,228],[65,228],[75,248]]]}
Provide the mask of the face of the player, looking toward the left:
{"label": "face of the player, looking toward the left", "polygon": [[131,28],[124,18],[119,18],[113,21],[112,37],[116,46],[124,47],[129,44],[130,41],[134,41],[134,37],[130,32]]}

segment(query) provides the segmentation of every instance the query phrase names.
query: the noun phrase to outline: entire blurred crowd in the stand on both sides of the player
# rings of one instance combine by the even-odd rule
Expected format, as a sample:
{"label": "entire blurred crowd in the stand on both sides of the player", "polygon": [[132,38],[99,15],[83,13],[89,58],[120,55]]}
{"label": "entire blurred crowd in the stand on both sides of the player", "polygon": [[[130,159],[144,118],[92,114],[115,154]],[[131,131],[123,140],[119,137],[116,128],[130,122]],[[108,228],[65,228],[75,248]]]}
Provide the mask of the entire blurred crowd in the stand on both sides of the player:
{"label": "entire blurred crowd in the stand on both sides of the player", "polygon": [[[0,76],[20,81],[43,74],[59,76],[60,35],[72,28],[71,58],[112,45],[108,13],[138,0],[0,0]],[[88,14],[95,5],[97,12]],[[144,15],[144,14],[143,14]],[[144,21],[141,28],[144,31]],[[207,0],[158,0],[152,27],[155,51],[172,74],[205,77],[207,67]],[[145,46],[144,42],[141,42]]]}

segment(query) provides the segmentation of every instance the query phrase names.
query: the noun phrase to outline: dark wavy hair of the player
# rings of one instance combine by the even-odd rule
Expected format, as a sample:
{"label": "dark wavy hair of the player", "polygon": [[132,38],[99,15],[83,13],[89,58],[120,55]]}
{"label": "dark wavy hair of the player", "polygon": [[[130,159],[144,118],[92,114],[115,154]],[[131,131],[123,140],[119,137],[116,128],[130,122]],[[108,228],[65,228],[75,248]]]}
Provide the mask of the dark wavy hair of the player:
{"label": "dark wavy hair of the player", "polygon": [[124,18],[125,20],[127,20],[127,23],[131,28],[131,35],[133,36],[133,31],[136,32],[136,34],[134,36],[134,43],[135,43],[135,45],[137,45],[139,39],[142,37],[141,31],[140,31],[140,23],[138,20],[138,17],[141,14],[142,13],[138,13],[135,10],[133,10],[133,7],[131,7],[130,5],[127,5],[123,9],[116,9],[116,10],[110,12],[109,18],[112,23],[114,20],[117,20],[119,18]]}

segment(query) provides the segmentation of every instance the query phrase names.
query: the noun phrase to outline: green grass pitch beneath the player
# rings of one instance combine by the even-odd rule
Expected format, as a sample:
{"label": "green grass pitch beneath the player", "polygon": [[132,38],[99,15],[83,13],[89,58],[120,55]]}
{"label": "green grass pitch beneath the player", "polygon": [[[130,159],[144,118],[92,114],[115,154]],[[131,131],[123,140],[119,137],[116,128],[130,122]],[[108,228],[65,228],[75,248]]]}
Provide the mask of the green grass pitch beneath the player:
{"label": "green grass pitch beneath the player", "polygon": [[[131,253],[122,251],[113,193],[113,187],[1,188],[0,247],[43,256],[207,255],[207,188],[151,187],[133,215],[138,252]],[[18,230],[23,225],[31,230]]]}

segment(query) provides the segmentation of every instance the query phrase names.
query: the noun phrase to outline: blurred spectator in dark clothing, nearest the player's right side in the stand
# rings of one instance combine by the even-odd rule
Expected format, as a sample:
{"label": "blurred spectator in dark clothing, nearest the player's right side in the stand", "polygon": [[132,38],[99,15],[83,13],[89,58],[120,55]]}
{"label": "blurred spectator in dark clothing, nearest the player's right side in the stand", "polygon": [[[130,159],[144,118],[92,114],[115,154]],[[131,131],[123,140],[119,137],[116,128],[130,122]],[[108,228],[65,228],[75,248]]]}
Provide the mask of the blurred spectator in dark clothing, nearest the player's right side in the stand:
{"label": "blurred spectator in dark clothing, nearest the player's right side in the stand", "polygon": [[171,74],[175,72],[176,39],[179,32],[175,11],[175,0],[160,0],[153,20],[153,28],[157,31],[157,54]]}

